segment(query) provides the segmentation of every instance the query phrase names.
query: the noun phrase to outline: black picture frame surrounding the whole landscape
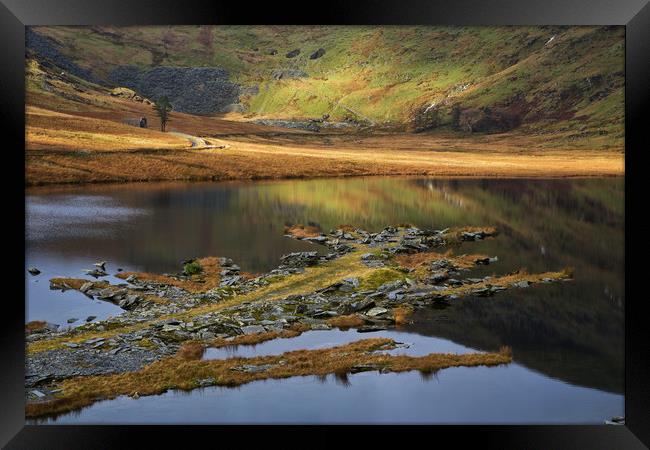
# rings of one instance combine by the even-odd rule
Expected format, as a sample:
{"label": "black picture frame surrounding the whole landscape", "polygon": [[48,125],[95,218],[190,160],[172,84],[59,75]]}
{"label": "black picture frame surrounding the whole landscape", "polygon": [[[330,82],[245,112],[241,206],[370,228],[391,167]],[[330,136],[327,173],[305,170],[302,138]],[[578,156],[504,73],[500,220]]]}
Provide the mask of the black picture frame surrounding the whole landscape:
{"label": "black picture frame surrounding the whole landscape", "polygon": [[[3,193],[10,200],[5,225],[12,227],[9,238],[24,233],[25,81],[24,31],[26,25],[180,25],[180,24],[430,24],[430,25],[624,25],[626,28],[625,87],[625,426],[436,426],[417,427],[418,437],[447,439],[454,447],[478,442],[483,448],[526,449],[623,449],[650,445],[650,336],[644,323],[641,274],[643,221],[631,220],[632,205],[643,210],[643,180],[640,179],[642,153],[648,138],[644,122],[650,117],[650,5],[647,0],[330,0],[310,2],[225,2],[209,0],[0,0],[0,120],[5,127],[3,142],[6,162]],[[642,214],[642,212],[641,212]],[[638,241],[637,241],[638,242]],[[16,245],[19,262],[24,262],[24,247]],[[635,256],[637,258],[635,258]],[[9,259],[6,258],[5,259]],[[24,263],[11,264],[8,280],[24,278]],[[22,293],[22,294],[21,294]],[[22,297],[21,297],[22,295]],[[226,442],[230,435],[250,445],[251,437],[264,442],[288,443],[295,439],[287,427],[243,429],[219,426],[35,426],[24,418],[24,285],[15,295],[4,296],[5,317],[0,327],[0,445],[6,448],[129,448],[144,439],[146,447],[157,443],[207,439]],[[341,428],[335,427],[336,431]],[[329,437],[330,432],[301,427],[314,436]],[[230,432],[229,432],[230,431]],[[392,427],[359,432],[365,445],[394,435],[407,435]],[[224,434],[226,433],[226,434]],[[399,434],[396,434],[399,433]],[[434,437],[435,436],[435,437]],[[278,440],[279,439],[279,440]],[[314,442],[309,438],[307,445]],[[411,438],[413,439],[413,438]],[[409,440],[411,440],[409,439]],[[319,440],[327,445],[324,440]],[[346,441],[351,443],[351,441]],[[426,442],[426,441],[424,441]],[[432,441],[430,441],[432,442]],[[332,442],[331,445],[336,445]],[[408,445],[408,444],[407,444]],[[418,444],[415,444],[418,445]],[[447,444],[450,445],[450,444]],[[187,448],[187,447],[185,447]]]}

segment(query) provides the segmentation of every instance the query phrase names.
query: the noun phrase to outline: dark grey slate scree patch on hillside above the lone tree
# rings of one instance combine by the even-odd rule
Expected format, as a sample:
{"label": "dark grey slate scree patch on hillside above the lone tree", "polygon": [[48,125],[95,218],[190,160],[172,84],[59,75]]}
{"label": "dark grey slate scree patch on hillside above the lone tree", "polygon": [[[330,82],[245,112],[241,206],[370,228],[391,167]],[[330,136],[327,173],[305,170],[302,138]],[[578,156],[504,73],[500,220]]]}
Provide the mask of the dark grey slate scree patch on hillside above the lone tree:
{"label": "dark grey slate scree patch on hillside above the lone tree", "polygon": [[232,83],[228,72],[220,68],[156,67],[141,71],[122,66],[109,74],[109,80],[153,101],[167,96],[175,111],[185,113],[225,112],[226,107],[239,103],[239,85]]}

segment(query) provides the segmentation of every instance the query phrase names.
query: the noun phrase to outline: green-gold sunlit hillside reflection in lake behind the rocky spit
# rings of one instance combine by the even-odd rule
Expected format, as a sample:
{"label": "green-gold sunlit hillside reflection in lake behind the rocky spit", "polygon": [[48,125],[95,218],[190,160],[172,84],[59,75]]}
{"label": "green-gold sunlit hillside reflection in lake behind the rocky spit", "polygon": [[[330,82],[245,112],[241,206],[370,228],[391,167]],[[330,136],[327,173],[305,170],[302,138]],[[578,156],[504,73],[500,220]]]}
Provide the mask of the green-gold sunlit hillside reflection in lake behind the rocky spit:
{"label": "green-gold sunlit hillside reflection in lake behind the rocky spit", "polygon": [[284,220],[325,228],[496,225],[502,237],[490,250],[502,262],[530,270],[573,266],[578,277],[606,279],[622,296],[623,179],[279,182],[247,189],[239,205],[253,209],[278,200],[301,207]]}

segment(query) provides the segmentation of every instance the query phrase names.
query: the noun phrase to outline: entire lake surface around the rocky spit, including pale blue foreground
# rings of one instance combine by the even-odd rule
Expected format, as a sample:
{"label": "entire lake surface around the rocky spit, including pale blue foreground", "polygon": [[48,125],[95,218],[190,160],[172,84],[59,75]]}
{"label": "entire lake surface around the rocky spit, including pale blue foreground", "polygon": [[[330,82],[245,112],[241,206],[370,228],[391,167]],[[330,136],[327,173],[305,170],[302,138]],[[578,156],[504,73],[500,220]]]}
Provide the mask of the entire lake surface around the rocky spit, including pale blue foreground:
{"label": "entire lake surface around the rocky spit, including pale blue foreground", "polygon": [[[285,223],[313,223],[324,230],[343,223],[369,230],[403,222],[433,228],[495,225],[501,232],[497,239],[459,250],[499,257],[477,275],[520,267],[575,269],[569,283],[420,311],[408,330],[481,351],[509,345],[515,363],[508,367],[446,369],[434,380],[364,373],[350,376],[347,387],[300,378],[116,399],[59,421],[173,422],[182,416],[189,422],[602,423],[623,414],[622,178],[358,178],[76,187],[27,194],[26,265],[43,271],[27,275],[27,320],[61,325],[70,317],[81,319],[77,325],[87,315],[101,319],[120,310],[76,292],[50,291],[52,276],[83,276],[81,270],[98,260],[108,261],[112,273],[118,267],[175,272],[181,260],[208,255],[227,256],[243,270],[262,272],[276,266],[282,254],[315,249],[282,237]],[[404,396],[387,392],[391,389]],[[280,399],[293,392],[304,397],[290,407]],[[147,408],[157,412],[145,413]],[[183,408],[183,414],[174,408]],[[198,411],[215,412],[206,417]],[[399,417],[391,411],[399,411]]]}

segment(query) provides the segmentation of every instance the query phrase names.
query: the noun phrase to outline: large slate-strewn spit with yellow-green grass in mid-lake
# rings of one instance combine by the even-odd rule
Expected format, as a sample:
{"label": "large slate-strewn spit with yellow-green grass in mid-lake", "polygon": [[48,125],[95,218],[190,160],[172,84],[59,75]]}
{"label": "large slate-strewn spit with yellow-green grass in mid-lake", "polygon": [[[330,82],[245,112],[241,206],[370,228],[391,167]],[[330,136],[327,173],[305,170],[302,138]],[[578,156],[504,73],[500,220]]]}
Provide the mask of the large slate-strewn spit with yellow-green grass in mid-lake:
{"label": "large slate-strewn spit with yellow-green grass in mid-lake", "polygon": [[[414,308],[571,277],[561,271],[471,278],[466,276],[471,267],[497,258],[436,252],[491,238],[497,234],[493,228],[401,226],[371,233],[341,226],[323,233],[298,226],[285,231],[288,238],[327,251],[290,253],[259,276],[242,272],[228,258],[212,257],[185,261],[184,272],[174,275],[121,272],[117,276],[125,282],[117,285],[52,279],[51,289],[76,289],[124,312],[62,331],[51,324],[26,327],[28,405],[55,401],[63,380],[136,372],[173,357],[187,343],[204,349],[333,327],[372,332],[404,323]],[[188,264],[201,270],[189,275]]]}

